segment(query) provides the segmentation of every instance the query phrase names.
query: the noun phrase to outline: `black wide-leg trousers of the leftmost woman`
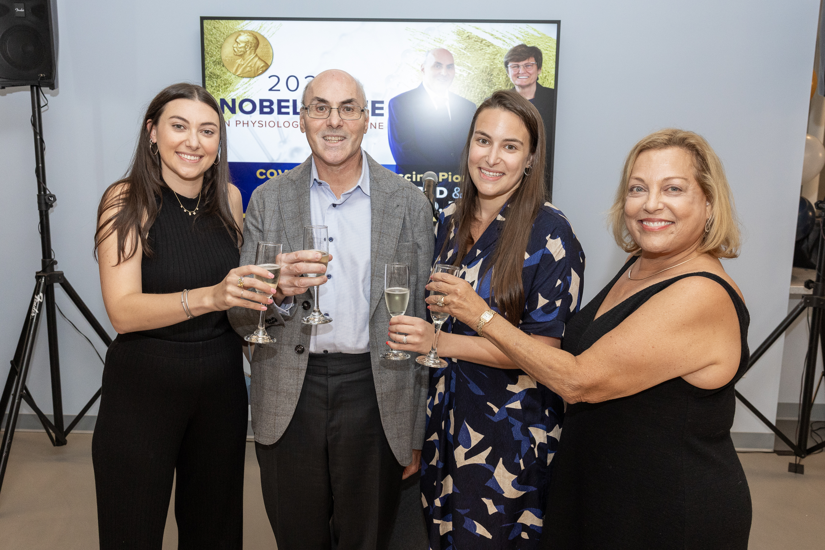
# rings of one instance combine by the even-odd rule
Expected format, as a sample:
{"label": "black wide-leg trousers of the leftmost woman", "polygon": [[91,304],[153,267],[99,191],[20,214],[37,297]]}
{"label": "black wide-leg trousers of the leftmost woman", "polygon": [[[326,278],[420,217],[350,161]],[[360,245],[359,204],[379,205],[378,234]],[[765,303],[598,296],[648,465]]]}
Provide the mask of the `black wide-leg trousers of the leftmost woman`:
{"label": "black wide-leg trousers of the leftmost woman", "polygon": [[177,470],[178,547],[242,548],[247,391],[238,336],[118,336],[92,439],[100,548],[160,550]]}

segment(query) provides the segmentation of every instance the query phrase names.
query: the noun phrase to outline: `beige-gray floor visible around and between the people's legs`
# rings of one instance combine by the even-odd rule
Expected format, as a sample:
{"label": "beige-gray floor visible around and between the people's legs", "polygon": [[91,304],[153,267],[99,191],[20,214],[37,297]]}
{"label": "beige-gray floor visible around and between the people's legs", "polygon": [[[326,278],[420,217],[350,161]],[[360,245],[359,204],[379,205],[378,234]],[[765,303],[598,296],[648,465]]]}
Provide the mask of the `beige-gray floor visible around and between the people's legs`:
{"label": "beige-gray floor visible around and between the people's legs", "polygon": [[[52,447],[40,432],[17,432],[0,492],[3,550],[97,548],[97,515],[91,458],[92,436],[73,434]],[[803,461],[804,475],[788,473],[789,457],[739,454],[753,501],[752,550],[825,547],[825,454]],[[247,445],[244,548],[276,548],[263,509],[257,462]],[[419,547],[421,504],[408,484],[393,548]],[[176,548],[172,515],[163,548]]]}

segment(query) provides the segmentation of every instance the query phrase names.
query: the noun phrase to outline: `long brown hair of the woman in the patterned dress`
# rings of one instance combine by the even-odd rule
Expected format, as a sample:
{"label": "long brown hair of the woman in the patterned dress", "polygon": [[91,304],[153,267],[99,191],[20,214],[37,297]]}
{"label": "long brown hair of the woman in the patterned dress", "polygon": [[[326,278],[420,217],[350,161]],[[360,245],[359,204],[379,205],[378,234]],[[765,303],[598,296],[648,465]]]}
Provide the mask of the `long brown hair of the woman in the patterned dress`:
{"label": "long brown hair of the woman in the patterned dress", "polygon": [[[469,147],[473,143],[475,122],[479,114],[487,109],[500,109],[516,115],[524,123],[530,134],[530,175],[521,176],[521,183],[508,201],[504,212],[504,227],[498,234],[498,244],[493,252],[491,261],[485,266],[484,273],[479,277],[482,281],[488,271],[493,269],[490,284],[490,296],[507,321],[518,327],[521,315],[524,312],[524,284],[521,280],[521,269],[524,266],[524,255],[527,242],[530,239],[530,229],[533,227],[535,216],[544,204],[544,123],[539,111],[530,101],[513,90],[499,90],[489,96],[475,111],[473,122],[469,127],[467,143],[461,157],[461,198],[456,201],[455,214],[452,223],[458,224],[458,234],[455,242],[459,243],[458,254],[453,264],[461,265],[461,260],[473,246],[473,237],[470,228],[473,223],[479,223],[479,192],[476,190],[469,172]],[[449,229],[448,229],[449,231]],[[449,233],[448,233],[449,234]],[[449,240],[449,239],[447,239]],[[447,240],[444,247],[446,249]],[[443,255],[444,249],[441,254]]]}

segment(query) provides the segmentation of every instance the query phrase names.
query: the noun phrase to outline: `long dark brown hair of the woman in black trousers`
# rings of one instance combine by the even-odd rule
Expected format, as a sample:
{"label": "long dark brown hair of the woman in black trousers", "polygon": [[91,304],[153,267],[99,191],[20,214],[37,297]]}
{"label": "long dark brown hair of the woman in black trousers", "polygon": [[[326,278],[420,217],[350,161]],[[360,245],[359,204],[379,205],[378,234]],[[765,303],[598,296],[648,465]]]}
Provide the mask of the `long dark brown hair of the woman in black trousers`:
{"label": "long dark brown hair of the woman in black trousers", "polygon": [[[152,248],[148,242],[149,228],[152,227],[158,217],[159,207],[156,197],[163,196],[163,187],[167,187],[167,185],[161,177],[160,155],[152,154],[149,150],[149,130],[146,126],[149,120],[152,120],[153,125],[157,124],[167,103],[176,99],[200,101],[218,113],[219,162],[210,166],[204,173],[203,186],[200,188],[200,209],[196,215],[215,215],[234,239],[239,240],[242,238],[241,228],[238,227],[238,223],[235,222],[229,208],[227,186],[232,179],[229,176],[229,164],[227,162],[224,115],[220,112],[218,102],[214,101],[214,97],[206,92],[204,88],[188,82],[181,82],[164,88],[149,103],[143,124],[140,125],[138,143],[134,148],[134,156],[129,170],[120,180],[109,186],[103,194],[101,203],[97,207],[96,258],[97,248],[100,247],[101,242],[111,237],[113,233],[117,235],[118,264],[129,260],[137,253],[138,243],[140,243],[144,255],[152,256]],[[108,209],[116,209],[117,212],[106,220],[102,220],[101,223],[101,216]],[[127,249],[128,241],[131,242]]]}

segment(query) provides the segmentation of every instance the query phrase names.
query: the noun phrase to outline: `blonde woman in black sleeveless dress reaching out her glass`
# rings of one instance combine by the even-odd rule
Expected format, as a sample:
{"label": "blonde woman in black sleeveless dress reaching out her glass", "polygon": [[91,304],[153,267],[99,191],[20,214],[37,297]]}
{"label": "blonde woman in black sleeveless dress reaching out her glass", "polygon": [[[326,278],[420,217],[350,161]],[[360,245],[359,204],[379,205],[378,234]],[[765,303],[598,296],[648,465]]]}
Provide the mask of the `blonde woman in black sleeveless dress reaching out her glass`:
{"label": "blonde woman in black sleeveless dress reaching out her glass", "polygon": [[478,322],[569,403],[543,548],[746,550],[750,493],[730,427],[749,317],[719,262],[738,253],[722,164],[697,134],[651,134],[630,152],[611,214],[631,257],[568,322],[563,350],[488,320],[449,275],[427,286],[447,294],[431,309]]}

